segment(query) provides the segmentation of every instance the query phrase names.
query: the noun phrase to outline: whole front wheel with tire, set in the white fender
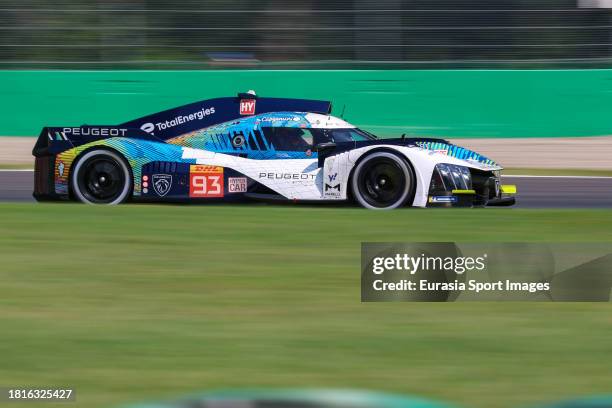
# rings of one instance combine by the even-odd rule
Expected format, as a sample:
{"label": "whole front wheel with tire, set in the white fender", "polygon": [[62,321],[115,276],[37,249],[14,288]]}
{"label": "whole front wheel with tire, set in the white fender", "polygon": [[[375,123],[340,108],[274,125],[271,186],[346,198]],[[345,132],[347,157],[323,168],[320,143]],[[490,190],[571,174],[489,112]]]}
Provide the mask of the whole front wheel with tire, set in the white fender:
{"label": "whole front wheel with tire, set in the white fender", "polygon": [[355,200],[372,210],[404,206],[414,197],[416,181],[410,164],[389,151],[376,151],[363,158],[353,171],[351,191]]}

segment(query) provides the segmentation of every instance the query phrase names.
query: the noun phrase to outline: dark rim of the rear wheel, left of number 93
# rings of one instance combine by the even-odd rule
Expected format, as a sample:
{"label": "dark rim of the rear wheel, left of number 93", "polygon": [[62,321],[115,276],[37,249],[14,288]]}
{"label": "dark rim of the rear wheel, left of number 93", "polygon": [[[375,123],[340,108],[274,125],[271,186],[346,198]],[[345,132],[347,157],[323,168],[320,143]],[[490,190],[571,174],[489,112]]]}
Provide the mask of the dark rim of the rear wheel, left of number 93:
{"label": "dark rim of the rear wheel, left of number 93", "polygon": [[77,177],[79,191],[92,203],[111,203],[125,187],[121,164],[110,156],[87,159]]}

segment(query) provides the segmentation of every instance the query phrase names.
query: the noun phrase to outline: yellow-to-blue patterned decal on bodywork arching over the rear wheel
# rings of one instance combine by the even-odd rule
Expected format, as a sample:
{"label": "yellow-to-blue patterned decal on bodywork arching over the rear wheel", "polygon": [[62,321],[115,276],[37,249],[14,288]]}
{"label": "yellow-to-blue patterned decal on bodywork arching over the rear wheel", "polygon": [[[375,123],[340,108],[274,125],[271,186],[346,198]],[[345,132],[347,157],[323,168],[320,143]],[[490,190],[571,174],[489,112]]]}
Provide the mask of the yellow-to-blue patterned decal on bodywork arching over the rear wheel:
{"label": "yellow-to-blue patterned decal on bodywork arching over the rear wheel", "polygon": [[68,149],[57,155],[55,160],[55,192],[57,194],[68,194],[68,180],[72,162],[81,152],[95,146],[113,148],[128,159],[134,175],[134,195],[136,196],[140,195],[141,169],[146,163],[151,161],[195,163],[194,160],[181,159],[182,148],[176,145],[119,137],[97,140]]}

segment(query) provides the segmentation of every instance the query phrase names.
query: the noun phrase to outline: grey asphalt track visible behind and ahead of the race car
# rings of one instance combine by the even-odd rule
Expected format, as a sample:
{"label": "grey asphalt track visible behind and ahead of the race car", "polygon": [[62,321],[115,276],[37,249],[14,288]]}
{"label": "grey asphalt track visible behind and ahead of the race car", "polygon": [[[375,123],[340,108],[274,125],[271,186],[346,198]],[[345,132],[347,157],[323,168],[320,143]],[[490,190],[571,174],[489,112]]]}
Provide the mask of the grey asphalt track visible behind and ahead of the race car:
{"label": "grey asphalt track visible behind and ahead of the race car", "polygon": [[[0,171],[0,201],[33,202],[32,171]],[[612,208],[612,177],[505,176],[519,208]]]}

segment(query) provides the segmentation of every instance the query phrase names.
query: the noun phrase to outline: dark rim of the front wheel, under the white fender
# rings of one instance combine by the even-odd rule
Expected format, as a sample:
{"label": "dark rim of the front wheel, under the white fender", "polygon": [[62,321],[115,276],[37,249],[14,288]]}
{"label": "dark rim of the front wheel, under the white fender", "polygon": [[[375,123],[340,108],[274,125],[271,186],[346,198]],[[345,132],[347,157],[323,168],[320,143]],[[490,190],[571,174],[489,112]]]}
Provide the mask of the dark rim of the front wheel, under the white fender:
{"label": "dark rim of the front wheel, under the white fender", "polygon": [[395,160],[374,158],[364,164],[358,178],[359,192],[374,207],[390,207],[398,202],[406,191],[403,168]]}

